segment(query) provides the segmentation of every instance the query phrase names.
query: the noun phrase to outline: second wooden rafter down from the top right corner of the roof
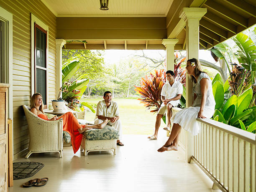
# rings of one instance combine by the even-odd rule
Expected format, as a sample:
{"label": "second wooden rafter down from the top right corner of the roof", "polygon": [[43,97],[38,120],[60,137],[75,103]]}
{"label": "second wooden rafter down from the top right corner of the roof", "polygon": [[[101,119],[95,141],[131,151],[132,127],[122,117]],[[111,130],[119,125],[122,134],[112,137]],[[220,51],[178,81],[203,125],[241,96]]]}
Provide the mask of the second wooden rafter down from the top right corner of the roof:
{"label": "second wooden rafter down from the top right corner of the roof", "polygon": [[244,18],[242,15],[239,15],[238,13],[234,13],[232,10],[224,7],[223,5],[220,5],[211,0],[206,1],[204,6],[247,28],[248,21],[246,18]]}

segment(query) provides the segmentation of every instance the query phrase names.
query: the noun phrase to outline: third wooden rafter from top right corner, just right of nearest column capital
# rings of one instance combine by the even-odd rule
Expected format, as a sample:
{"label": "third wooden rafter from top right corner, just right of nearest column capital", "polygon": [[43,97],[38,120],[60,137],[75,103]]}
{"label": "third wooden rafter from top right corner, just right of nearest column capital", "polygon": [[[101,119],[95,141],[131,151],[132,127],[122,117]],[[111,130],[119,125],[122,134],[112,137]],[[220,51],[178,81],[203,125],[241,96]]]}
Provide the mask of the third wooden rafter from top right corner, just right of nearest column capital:
{"label": "third wooden rafter from top right corner, just right of nearest column capital", "polygon": [[215,23],[216,25],[219,25],[223,27],[224,29],[236,34],[236,26],[232,23],[229,23],[228,21],[224,20],[223,18],[220,18],[217,15],[214,15],[212,12],[209,12],[207,10],[207,13],[202,17],[206,20],[211,21],[212,23]]}

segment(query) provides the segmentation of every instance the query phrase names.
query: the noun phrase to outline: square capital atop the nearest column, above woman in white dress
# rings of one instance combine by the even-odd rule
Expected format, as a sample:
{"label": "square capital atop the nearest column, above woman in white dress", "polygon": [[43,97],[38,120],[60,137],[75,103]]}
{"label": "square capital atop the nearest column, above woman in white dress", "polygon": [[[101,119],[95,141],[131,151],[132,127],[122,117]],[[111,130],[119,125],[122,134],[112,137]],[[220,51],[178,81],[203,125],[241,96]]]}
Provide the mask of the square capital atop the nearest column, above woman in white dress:
{"label": "square capital atop the nearest column, above woman in white dress", "polygon": [[179,18],[182,18],[184,21],[189,19],[200,20],[205,13],[207,13],[207,8],[183,8],[179,13]]}

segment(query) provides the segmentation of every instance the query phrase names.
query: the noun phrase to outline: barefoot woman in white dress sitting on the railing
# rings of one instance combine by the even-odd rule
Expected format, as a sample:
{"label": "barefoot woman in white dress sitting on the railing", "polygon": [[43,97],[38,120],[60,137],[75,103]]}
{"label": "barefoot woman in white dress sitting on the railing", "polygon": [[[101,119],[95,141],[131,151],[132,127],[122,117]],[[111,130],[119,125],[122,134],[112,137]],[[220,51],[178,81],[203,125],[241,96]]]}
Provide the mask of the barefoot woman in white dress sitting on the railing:
{"label": "barefoot woman in white dress sitting on the railing", "polygon": [[193,79],[193,104],[172,116],[173,126],[170,137],[164,146],[157,150],[158,152],[177,151],[181,128],[197,135],[200,132],[197,118],[211,118],[214,113],[215,100],[210,77],[202,71],[199,61],[195,58],[187,60],[186,69]]}

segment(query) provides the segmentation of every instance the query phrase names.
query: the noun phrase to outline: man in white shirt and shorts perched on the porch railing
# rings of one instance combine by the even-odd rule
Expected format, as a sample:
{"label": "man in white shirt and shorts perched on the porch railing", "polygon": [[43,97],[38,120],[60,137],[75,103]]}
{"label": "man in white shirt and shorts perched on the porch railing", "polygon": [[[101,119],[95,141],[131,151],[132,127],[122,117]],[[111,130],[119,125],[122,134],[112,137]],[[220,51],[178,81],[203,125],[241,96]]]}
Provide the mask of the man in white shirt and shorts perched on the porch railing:
{"label": "man in white shirt and shorts perched on the porch railing", "polygon": [[183,93],[183,86],[182,83],[178,81],[174,81],[174,72],[173,71],[166,71],[166,79],[168,82],[164,84],[161,91],[161,104],[157,116],[156,116],[156,124],[155,124],[155,133],[152,136],[148,136],[148,139],[157,139],[157,133],[159,130],[159,126],[161,124],[161,118],[164,116],[167,110],[167,118],[166,123],[168,120],[168,124],[164,127],[164,130],[169,130],[171,128],[171,117],[172,117],[172,107],[177,107],[179,104],[179,99]]}

